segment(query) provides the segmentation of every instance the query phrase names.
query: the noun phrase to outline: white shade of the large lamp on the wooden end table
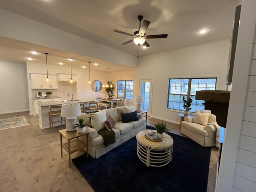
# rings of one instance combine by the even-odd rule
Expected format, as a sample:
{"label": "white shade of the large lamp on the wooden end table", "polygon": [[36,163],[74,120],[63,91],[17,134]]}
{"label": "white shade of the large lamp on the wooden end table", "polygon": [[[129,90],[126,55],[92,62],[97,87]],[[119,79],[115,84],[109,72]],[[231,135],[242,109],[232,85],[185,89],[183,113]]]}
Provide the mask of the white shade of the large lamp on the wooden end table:
{"label": "white shade of the large lamp on the wooden end table", "polygon": [[64,103],[61,107],[60,116],[62,117],[77,117],[80,116],[80,103]]}

